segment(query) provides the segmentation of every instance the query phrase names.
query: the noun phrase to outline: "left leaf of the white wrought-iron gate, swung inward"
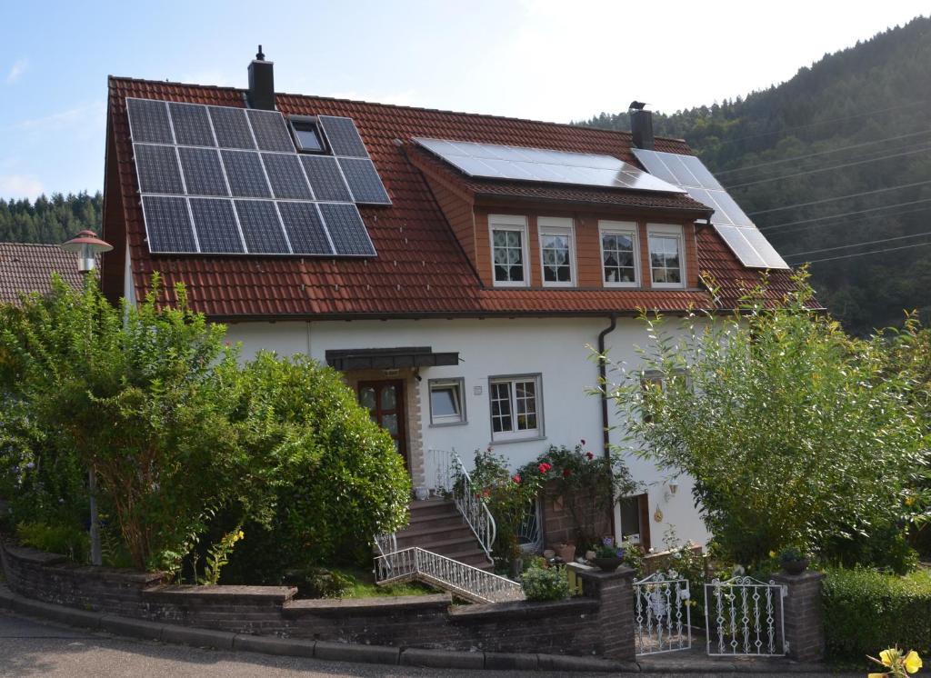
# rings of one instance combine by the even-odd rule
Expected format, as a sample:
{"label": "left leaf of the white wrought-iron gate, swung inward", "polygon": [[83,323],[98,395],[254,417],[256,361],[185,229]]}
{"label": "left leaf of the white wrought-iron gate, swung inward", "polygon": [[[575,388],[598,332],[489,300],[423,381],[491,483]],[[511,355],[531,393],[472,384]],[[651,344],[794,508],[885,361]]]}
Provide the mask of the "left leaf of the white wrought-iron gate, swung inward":
{"label": "left leaf of the white wrought-iron gate, swung inward", "polygon": [[692,647],[689,582],[656,572],[634,581],[634,636],[638,655]]}

